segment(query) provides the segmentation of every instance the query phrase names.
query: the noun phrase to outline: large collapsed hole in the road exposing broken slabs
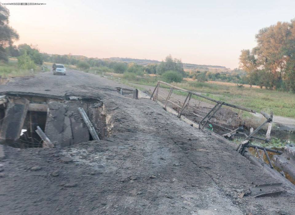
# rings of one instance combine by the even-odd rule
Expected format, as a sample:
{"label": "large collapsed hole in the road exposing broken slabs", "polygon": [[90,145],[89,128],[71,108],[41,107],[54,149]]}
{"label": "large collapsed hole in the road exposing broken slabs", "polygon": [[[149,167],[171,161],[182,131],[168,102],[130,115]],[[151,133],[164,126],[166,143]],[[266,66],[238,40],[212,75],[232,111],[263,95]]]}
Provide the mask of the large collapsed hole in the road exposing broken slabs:
{"label": "large collapsed hole in the road exposing broken slabs", "polygon": [[44,137],[36,132],[38,128],[56,147],[93,140],[79,108],[84,109],[99,139],[107,135],[106,114],[100,98],[42,95],[6,94],[5,102],[0,104],[1,144],[15,148],[45,147]]}

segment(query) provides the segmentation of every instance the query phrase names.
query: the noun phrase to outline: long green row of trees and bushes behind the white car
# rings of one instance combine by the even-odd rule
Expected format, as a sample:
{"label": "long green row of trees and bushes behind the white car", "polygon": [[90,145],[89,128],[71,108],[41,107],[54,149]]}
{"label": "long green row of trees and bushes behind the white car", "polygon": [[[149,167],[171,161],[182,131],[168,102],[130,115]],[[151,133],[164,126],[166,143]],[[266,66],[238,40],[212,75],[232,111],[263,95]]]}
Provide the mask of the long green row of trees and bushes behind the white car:
{"label": "long green row of trees and bushes behind the white car", "polygon": [[84,56],[57,55],[40,53],[38,48],[32,44],[13,45],[19,39],[16,30],[9,26],[9,10],[0,4],[0,61],[8,63],[8,57],[16,57],[18,66],[22,69],[34,69],[36,65],[43,62],[62,63],[76,65],[85,71],[89,68],[98,72],[126,73],[127,75],[143,76],[144,73],[163,75],[168,82],[180,82],[186,73],[183,70],[183,63],[179,59],[167,56],[160,64],[149,64],[142,66],[136,63],[120,63]]}

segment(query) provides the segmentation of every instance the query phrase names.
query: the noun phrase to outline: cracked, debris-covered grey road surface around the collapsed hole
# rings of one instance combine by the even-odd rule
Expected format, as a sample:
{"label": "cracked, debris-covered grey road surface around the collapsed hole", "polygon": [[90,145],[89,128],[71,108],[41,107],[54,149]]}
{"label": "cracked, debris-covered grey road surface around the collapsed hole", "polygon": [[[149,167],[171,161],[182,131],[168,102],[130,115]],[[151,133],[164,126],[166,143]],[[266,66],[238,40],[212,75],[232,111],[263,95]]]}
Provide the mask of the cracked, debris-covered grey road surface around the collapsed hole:
{"label": "cracked, debris-covered grey road surface around the collapsed hole", "polygon": [[[112,136],[100,142],[53,149],[4,146],[0,214],[293,214],[293,190],[284,186],[277,197],[239,198],[253,184],[276,180],[155,102],[122,96],[115,86],[120,84],[72,70],[0,86],[0,91],[98,95],[113,125]],[[65,156],[72,161],[63,162]]]}

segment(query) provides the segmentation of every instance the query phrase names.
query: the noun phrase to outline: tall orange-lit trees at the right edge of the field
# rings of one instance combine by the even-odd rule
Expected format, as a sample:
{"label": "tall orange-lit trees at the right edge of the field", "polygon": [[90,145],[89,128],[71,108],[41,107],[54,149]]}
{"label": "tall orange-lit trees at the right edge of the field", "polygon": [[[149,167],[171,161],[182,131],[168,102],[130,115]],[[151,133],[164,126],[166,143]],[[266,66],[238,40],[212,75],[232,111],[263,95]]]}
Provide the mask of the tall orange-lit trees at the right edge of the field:
{"label": "tall orange-lit trees at the right edge of the field", "polygon": [[295,93],[295,19],[260,29],[255,37],[257,46],[239,57],[248,83]]}

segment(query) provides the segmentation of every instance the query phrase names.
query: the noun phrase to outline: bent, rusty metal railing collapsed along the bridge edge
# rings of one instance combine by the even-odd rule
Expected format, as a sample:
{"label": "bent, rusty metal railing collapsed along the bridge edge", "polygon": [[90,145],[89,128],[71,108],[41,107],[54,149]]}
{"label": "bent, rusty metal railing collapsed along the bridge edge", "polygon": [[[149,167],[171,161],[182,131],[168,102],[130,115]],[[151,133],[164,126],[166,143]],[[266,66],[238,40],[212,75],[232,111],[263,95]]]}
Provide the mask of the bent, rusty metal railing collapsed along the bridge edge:
{"label": "bent, rusty metal railing collapsed along the bridge edge", "polygon": [[[168,93],[167,92],[165,93],[164,90],[162,91],[162,89],[160,89],[160,84],[170,86],[170,91]],[[176,96],[174,96],[174,95],[172,96],[173,90],[179,90],[179,91],[187,93],[187,96],[186,96],[185,100],[182,102],[179,98],[176,98]],[[196,106],[196,105],[193,106],[190,103],[192,95],[196,96],[197,98],[199,97],[199,98],[207,99],[207,100],[209,100],[211,102],[215,102],[216,105],[213,108],[212,107],[203,107],[203,108],[210,109],[209,112],[203,111],[202,109],[198,108],[198,106]],[[194,116],[195,117],[194,121],[196,121],[199,124],[198,126],[199,126],[199,129],[201,129],[201,130],[206,128],[206,125],[210,124],[211,128],[213,128],[213,126],[216,126],[219,129],[223,129],[223,130],[228,131],[228,132],[226,132],[225,134],[222,135],[225,138],[232,138],[236,134],[244,135],[245,139],[241,142],[241,144],[239,145],[237,151],[243,155],[245,153],[245,150],[246,150],[247,147],[255,148],[257,153],[258,153],[258,149],[263,150],[263,152],[265,153],[266,158],[269,161],[269,165],[270,165],[271,168],[273,168],[273,166],[271,164],[271,161],[269,159],[269,155],[267,154],[267,151],[278,153],[278,154],[283,153],[283,152],[278,151],[278,150],[273,150],[273,149],[270,149],[270,148],[265,148],[265,147],[255,146],[255,145],[250,144],[251,139],[264,140],[266,142],[270,141],[270,132],[271,132],[272,120],[273,120],[273,114],[272,113],[269,115],[268,113],[265,113],[264,111],[260,111],[260,114],[262,114],[262,116],[266,120],[261,125],[259,125],[255,130],[251,128],[250,133],[248,135],[245,132],[243,132],[243,128],[241,128],[241,127],[238,127],[236,129],[230,129],[230,128],[227,128],[226,126],[218,125],[216,122],[213,122],[211,119],[217,115],[218,111],[221,109],[222,106],[228,106],[228,107],[231,107],[231,108],[239,109],[239,110],[242,110],[242,111],[247,111],[247,112],[250,112],[250,113],[257,113],[257,111],[255,111],[253,109],[245,108],[245,107],[238,106],[238,105],[232,105],[232,104],[229,104],[229,103],[226,103],[226,102],[223,102],[223,101],[218,101],[218,100],[215,100],[213,98],[204,96],[202,94],[199,94],[199,93],[196,93],[196,92],[193,92],[193,91],[190,91],[190,90],[185,90],[185,89],[182,89],[182,88],[177,87],[177,86],[173,86],[173,85],[171,85],[169,83],[166,83],[166,82],[163,82],[163,81],[158,81],[153,93],[151,94],[151,99],[153,99],[153,101],[162,102],[163,107],[164,107],[165,110],[167,109],[167,105],[169,105],[169,104],[171,104],[172,107],[174,106],[174,109],[176,109],[177,112],[178,112],[178,117],[179,118],[183,114],[185,114],[184,112],[187,112],[190,115]],[[206,115],[202,116],[202,113],[203,114],[205,113]],[[201,120],[198,121],[198,120],[196,120],[197,118],[200,118]],[[266,138],[254,136],[267,123],[268,123],[268,129],[267,129],[267,132],[266,132]]]}

